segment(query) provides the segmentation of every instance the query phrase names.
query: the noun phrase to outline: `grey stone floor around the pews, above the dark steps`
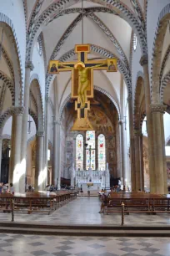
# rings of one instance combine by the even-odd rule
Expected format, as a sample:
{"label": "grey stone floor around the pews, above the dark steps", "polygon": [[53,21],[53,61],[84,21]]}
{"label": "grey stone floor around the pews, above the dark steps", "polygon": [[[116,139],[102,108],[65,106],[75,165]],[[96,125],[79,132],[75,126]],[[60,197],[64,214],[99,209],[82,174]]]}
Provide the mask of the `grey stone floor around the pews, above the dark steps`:
{"label": "grey stone floor around the pews, above the dark steps", "polygon": [[[60,207],[49,216],[42,213],[15,212],[15,221],[22,223],[47,223],[47,224],[96,224],[96,225],[120,225],[120,214],[100,214],[101,202],[97,197],[77,197],[77,199]],[[11,214],[0,213],[0,222],[10,222]],[[170,225],[169,214],[157,215],[130,214],[125,215],[126,225]],[[170,255],[170,253],[169,253]]]}

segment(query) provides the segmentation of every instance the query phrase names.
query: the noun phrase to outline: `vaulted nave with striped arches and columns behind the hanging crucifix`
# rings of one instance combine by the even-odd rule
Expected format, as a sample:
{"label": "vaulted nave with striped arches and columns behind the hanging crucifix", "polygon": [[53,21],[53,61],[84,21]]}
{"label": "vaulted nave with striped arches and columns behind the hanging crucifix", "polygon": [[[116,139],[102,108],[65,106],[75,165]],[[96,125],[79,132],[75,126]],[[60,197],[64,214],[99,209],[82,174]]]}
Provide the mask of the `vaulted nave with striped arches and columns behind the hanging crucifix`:
{"label": "vaulted nave with striped arches and columns behind the hanging crucifix", "polygon": [[60,189],[73,184],[73,171],[91,166],[92,172],[108,171],[110,182],[120,178],[127,190],[168,193],[170,1],[83,3],[88,59],[117,58],[117,72],[93,72],[93,142],[86,141],[86,132],[71,131],[77,115],[71,72],[47,73],[50,59],[77,58],[81,1],[1,5],[0,182],[13,182],[16,192],[25,192],[26,184]]}

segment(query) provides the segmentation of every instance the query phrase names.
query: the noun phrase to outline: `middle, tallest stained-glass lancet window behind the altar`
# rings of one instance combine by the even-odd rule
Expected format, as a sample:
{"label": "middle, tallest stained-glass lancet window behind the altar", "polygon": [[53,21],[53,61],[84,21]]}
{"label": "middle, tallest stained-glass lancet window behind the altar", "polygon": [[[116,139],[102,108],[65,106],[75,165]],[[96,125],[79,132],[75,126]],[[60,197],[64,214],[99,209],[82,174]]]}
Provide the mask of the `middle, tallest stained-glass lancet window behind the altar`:
{"label": "middle, tallest stained-glass lancet window behind the altar", "polygon": [[86,170],[92,168],[92,170],[96,169],[95,155],[95,131],[87,131],[86,132]]}

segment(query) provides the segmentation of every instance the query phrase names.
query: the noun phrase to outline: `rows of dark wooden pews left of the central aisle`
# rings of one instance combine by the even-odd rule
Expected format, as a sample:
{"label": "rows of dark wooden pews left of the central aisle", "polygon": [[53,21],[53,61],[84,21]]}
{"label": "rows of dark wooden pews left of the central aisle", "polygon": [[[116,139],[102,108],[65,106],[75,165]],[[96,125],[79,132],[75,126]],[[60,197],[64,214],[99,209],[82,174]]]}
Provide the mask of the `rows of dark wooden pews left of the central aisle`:
{"label": "rows of dark wooden pews left of the central aisle", "polygon": [[77,191],[61,191],[61,192],[26,192],[21,194],[0,195],[0,211],[12,212],[21,211],[28,212],[47,212],[50,214],[55,211],[57,207],[70,202],[77,197]]}

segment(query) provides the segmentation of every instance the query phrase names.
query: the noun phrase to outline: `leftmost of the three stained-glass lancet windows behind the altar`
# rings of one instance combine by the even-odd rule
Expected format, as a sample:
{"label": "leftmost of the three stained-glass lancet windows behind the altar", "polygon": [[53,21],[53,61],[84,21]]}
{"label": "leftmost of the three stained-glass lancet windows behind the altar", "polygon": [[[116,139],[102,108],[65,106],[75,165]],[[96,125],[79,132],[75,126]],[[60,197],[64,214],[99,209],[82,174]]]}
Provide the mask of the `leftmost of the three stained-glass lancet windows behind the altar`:
{"label": "leftmost of the three stained-glass lancet windows behind the altar", "polygon": [[76,170],[83,170],[83,136],[81,134],[76,137]]}

